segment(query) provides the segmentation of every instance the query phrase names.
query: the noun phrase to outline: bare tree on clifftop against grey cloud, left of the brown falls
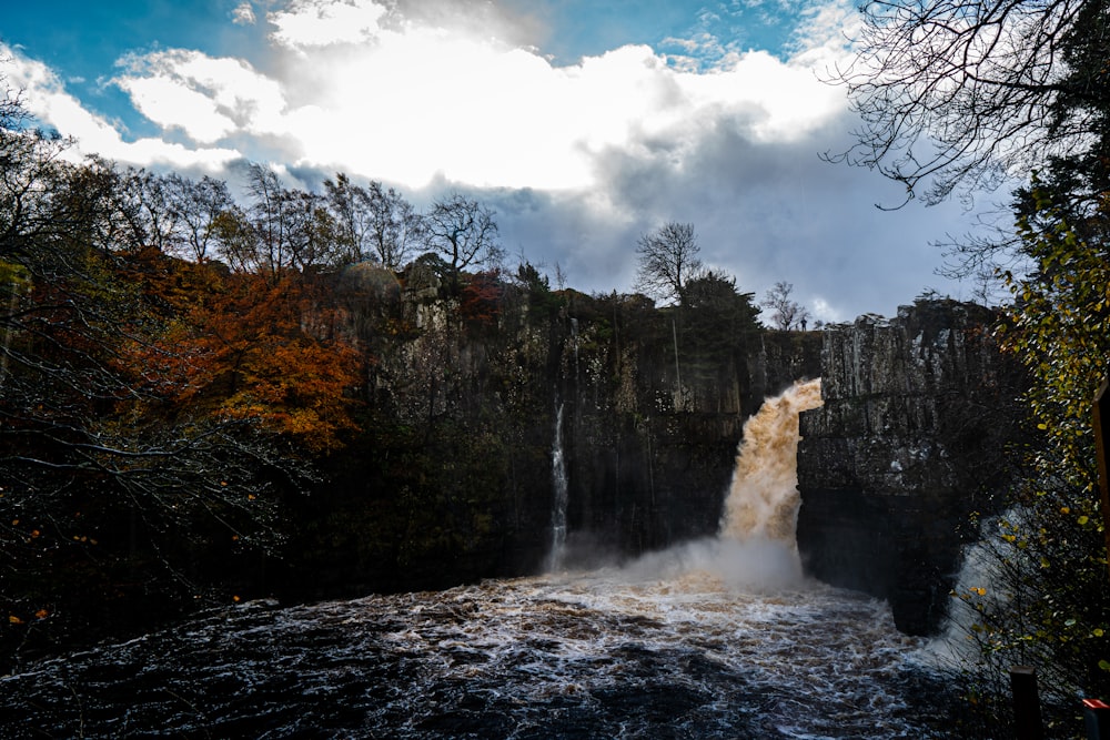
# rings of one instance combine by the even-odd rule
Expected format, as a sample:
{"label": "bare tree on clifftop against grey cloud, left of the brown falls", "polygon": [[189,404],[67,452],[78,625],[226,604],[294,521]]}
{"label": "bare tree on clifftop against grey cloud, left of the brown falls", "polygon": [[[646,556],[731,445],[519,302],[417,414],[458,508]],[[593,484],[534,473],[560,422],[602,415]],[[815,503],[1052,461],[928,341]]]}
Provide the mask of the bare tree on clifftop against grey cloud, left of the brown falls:
{"label": "bare tree on clifftop against grey cloud, left of the brown falls", "polygon": [[639,237],[636,256],[636,288],[663,300],[686,305],[687,283],[702,274],[698,259],[702,247],[694,234],[694,224],[669,221]]}

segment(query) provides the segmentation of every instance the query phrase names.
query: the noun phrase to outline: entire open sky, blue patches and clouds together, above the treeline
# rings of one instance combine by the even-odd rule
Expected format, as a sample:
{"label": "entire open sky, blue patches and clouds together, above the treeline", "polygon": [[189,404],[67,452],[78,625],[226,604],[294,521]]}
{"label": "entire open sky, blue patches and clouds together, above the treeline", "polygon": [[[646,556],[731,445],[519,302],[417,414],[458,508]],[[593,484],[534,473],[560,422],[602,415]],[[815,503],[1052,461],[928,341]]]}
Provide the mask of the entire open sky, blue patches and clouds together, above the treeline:
{"label": "entire open sky, blue patches and clouds together, above the treeline", "polygon": [[844,0],[53,0],[0,17],[0,72],[78,151],[233,184],[344,172],[417,206],[496,212],[511,262],[587,293],[634,291],[636,242],[695,227],[757,300],[816,320],[892,315],[967,233],[959,204],[830,164],[858,125],[828,70]]}

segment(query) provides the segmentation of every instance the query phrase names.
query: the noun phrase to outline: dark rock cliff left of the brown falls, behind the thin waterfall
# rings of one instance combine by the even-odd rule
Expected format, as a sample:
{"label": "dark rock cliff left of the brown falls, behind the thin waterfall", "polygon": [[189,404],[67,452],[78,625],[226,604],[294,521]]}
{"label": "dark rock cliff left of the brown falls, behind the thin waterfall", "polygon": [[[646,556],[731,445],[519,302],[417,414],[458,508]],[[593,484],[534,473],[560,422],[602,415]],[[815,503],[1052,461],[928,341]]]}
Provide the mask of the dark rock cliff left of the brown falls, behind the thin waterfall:
{"label": "dark rock cliff left of the brown falls, behind the thin waterfall", "polygon": [[299,598],[542,569],[559,407],[565,565],[713,535],[745,418],[820,371],[818,333],[758,331],[728,302],[505,288],[495,314],[467,313],[381,272],[346,288],[373,358],[363,433],[293,513]]}

